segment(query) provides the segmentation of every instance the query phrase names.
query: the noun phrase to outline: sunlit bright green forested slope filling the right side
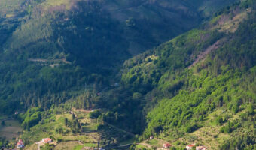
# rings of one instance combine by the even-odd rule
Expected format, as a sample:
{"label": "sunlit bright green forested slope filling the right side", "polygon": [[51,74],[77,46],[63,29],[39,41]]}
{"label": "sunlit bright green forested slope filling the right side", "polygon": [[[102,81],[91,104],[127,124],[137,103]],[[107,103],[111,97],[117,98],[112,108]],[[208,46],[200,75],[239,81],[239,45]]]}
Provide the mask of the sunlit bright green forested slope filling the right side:
{"label": "sunlit bright green forested slope filling the right side", "polygon": [[123,85],[140,95],[133,110],[146,114],[139,140],[255,148],[255,14],[254,1],[242,1],[124,63]]}

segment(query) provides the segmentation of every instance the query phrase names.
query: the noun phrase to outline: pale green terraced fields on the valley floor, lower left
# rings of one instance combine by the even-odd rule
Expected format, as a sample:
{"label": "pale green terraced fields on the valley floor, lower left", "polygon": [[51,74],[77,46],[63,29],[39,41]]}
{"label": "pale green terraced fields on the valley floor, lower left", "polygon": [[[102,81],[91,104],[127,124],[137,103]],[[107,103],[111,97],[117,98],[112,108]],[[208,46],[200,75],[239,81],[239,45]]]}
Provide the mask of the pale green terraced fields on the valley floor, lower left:
{"label": "pale green terraced fields on the valley floor, lower left", "polygon": [[[47,124],[38,124],[35,127],[31,128],[30,133],[25,132],[23,134],[24,140],[31,140],[30,142],[34,142],[32,145],[27,145],[26,149],[30,150],[36,147],[36,143],[40,141],[42,138],[52,137],[56,142],[54,149],[73,149],[77,145],[84,145],[85,143],[93,144],[97,142],[97,137],[99,136],[96,133],[96,121],[90,120],[87,118],[87,113],[79,113],[80,118],[78,118],[79,122],[84,122],[84,120],[89,121],[87,124],[88,130],[84,130],[83,133],[72,133],[70,127],[66,127],[64,124],[64,118],[72,121],[72,115],[69,113],[63,113],[59,115],[53,115],[50,118],[50,122]],[[53,121],[54,120],[54,121]],[[56,128],[61,127],[63,133],[56,133]],[[32,136],[33,135],[33,136]]]}

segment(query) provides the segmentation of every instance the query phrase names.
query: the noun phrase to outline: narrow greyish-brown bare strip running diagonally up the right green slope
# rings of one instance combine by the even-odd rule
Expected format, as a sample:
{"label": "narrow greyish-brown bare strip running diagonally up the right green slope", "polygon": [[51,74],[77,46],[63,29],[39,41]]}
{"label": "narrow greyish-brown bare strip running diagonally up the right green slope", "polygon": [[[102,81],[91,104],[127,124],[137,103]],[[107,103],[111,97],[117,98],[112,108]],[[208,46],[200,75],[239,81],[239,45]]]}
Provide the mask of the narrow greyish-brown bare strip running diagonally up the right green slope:
{"label": "narrow greyish-brown bare strip running diagonally up the right green slope", "polygon": [[196,65],[197,62],[200,62],[200,60],[202,60],[203,58],[206,58],[206,55],[208,55],[210,52],[218,49],[224,43],[225,40],[226,40],[225,38],[221,38],[220,40],[218,40],[217,42],[215,42],[214,44],[209,46],[207,49],[203,50],[203,52],[201,52],[199,55],[197,55],[196,60],[188,68],[190,69],[190,68],[194,67],[194,65]]}

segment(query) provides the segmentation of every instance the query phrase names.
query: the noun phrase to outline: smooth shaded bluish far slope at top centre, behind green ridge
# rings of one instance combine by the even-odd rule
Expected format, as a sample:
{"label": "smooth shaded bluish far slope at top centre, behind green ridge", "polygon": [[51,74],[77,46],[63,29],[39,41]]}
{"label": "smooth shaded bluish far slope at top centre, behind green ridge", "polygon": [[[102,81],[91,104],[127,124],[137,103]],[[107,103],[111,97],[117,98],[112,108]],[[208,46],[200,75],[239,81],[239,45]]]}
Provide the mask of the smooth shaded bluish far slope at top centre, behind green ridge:
{"label": "smooth shaded bluish far slope at top centre, behind green ridge", "polygon": [[233,2],[121,0],[106,1],[103,8],[114,20],[126,23],[128,28],[125,28],[124,34],[129,42],[128,50],[136,55],[194,28],[209,17],[210,12]]}

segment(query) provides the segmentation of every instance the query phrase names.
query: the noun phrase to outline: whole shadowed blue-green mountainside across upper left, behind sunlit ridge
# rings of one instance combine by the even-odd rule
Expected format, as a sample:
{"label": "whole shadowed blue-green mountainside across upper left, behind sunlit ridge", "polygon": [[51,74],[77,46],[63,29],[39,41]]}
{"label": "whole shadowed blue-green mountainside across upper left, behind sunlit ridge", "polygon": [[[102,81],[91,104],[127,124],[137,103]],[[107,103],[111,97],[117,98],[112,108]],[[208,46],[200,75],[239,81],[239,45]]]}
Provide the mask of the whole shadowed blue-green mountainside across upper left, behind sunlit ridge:
{"label": "whole shadowed blue-green mountainside across upper left, behind sunlit ridge", "polygon": [[2,113],[32,105],[47,109],[83,94],[84,85],[94,84],[94,92],[100,92],[116,82],[113,76],[124,60],[197,26],[205,17],[200,7],[209,7],[201,1],[11,4],[16,13],[2,15],[3,20],[17,20],[7,32],[3,29],[7,34],[1,32]]}

